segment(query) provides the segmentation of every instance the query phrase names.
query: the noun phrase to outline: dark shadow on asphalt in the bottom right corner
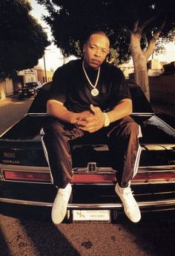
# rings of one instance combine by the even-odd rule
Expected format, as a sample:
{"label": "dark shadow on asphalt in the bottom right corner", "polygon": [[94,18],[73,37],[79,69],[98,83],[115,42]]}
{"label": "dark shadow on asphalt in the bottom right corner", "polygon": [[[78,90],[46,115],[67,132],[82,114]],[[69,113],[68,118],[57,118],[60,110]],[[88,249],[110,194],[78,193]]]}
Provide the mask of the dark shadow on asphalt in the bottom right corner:
{"label": "dark shadow on asphalt in the bottom right corner", "polygon": [[142,220],[135,225],[129,220],[124,228],[136,239],[142,250],[151,256],[174,256],[175,251],[175,211],[142,214]]}

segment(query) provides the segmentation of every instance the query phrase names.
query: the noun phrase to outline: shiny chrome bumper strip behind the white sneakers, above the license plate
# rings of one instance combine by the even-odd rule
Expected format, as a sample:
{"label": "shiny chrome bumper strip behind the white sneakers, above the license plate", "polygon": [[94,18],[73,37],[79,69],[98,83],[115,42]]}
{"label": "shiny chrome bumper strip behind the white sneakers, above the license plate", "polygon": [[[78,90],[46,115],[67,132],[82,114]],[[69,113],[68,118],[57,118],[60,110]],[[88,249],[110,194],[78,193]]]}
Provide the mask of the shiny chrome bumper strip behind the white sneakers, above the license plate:
{"label": "shiny chrome bumper strip behind the white sneakers, above the license plate", "polygon": [[[36,202],[36,201],[27,201],[20,199],[8,199],[0,198],[0,202],[13,203],[16,205],[33,205],[33,206],[44,206],[52,207],[52,202]],[[140,208],[145,207],[162,207],[162,206],[173,206],[175,205],[175,199],[160,200],[160,201],[149,201],[149,202],[137,202]],[[67,209],[116,209],[123,208],[122,203],[110,203],[110,204],[68,204]]]}

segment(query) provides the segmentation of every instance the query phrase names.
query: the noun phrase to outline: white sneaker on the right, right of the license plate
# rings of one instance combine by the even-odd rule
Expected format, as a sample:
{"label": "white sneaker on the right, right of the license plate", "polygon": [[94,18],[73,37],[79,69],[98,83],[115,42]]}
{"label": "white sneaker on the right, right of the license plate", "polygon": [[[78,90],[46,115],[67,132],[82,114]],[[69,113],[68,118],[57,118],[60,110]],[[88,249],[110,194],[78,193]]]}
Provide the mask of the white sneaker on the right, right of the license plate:
{"label": "white sneaker on the right, right of the license plate", "polygon": [[130,186],[128,188],[120,188],[119,184],[116,184],[115,191],[119,198],[122,200],[125,214],[133,222],[138,223],[141,219],[141,214],[139,211],[139,206],[133,197]]}

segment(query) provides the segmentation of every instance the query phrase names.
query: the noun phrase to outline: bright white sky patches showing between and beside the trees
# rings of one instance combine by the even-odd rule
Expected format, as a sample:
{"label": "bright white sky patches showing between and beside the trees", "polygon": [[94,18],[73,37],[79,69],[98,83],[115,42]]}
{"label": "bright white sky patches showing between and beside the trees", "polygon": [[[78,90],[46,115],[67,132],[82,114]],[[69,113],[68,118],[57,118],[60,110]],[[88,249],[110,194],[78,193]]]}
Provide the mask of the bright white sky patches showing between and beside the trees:
{"label": "bright white sky patches showing between and beside the trees", "polygon": [[[44,30],[47,32],[48,39],[51,41],[52,36],[50,32],[49,26],[42,20],[42,15],[47,14],[47,10],[44,9],[44,7],[40,4],[37,4],[36,0],[30,0],[30,4],[33,8],[31,14],[38,19],[39,23],[42,25]],[[59,48],[56,47],[53,43],[49,45],[45,50],[45,64],[46,69],[50,70],[50,68],[53,68],[53,71],[56,70],[60,65],[63,64],[63,56],[59,50]],[[70,59],[73,59],[70,58]],[[169,43],[166,45],[166,53],[165,54],[154,54],[154,59],[159,61],[166,61],[167,63],[171,63],[175,61],[175,42]],[[44,60],[43,58],[39,60],[39,65],[44,68]]]}

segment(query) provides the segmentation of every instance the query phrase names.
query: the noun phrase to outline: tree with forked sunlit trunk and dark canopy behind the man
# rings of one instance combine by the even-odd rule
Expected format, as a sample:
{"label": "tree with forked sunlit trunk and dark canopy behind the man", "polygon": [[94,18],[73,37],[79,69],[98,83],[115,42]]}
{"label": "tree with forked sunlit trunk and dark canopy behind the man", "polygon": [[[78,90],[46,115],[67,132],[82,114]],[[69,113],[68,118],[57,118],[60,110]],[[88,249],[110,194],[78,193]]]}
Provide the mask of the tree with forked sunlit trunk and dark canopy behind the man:
{"label": "tree with forked sunlit trunk and dark canopy behind the man", "polygon": [[174,0],[38,0],[47,7],[45,20],[54,42],[65,56],[79,57],[87,33],[102,29],[110,37],[118,59],[131,55],[135,80],[149,99],[148,58],[174,39]]}

